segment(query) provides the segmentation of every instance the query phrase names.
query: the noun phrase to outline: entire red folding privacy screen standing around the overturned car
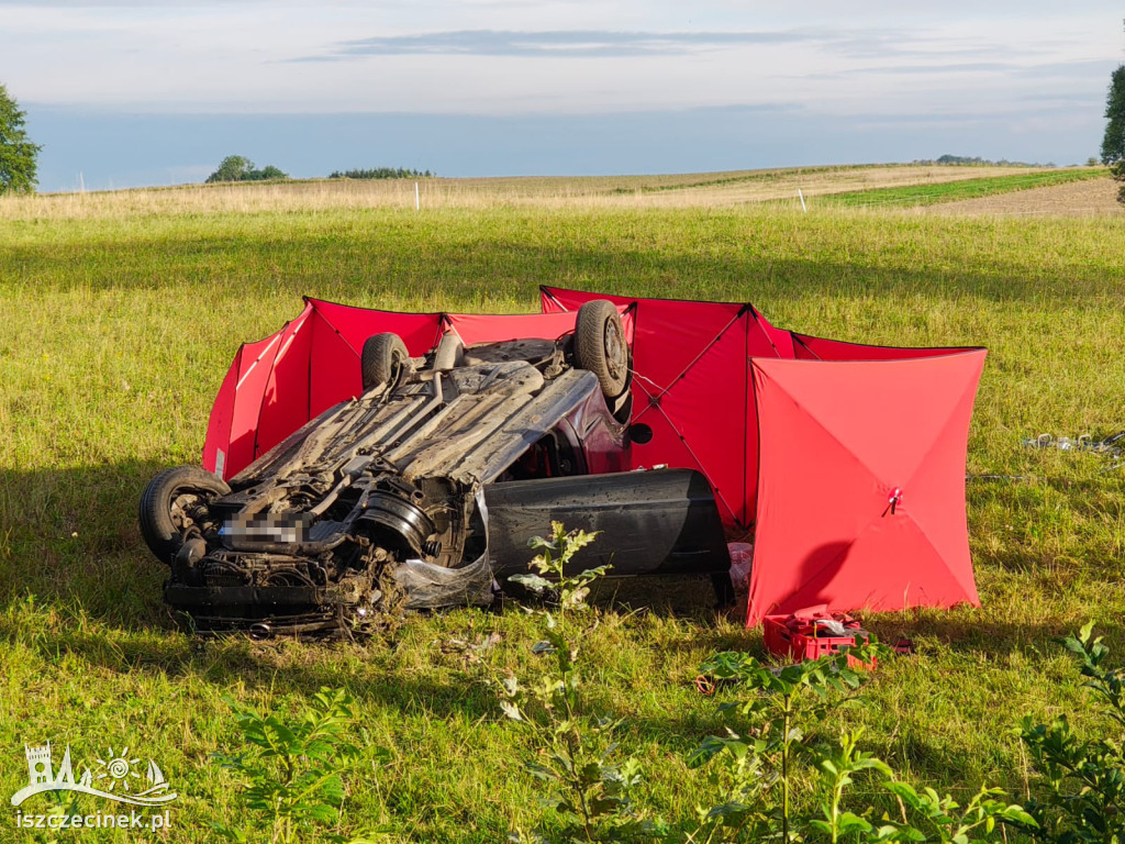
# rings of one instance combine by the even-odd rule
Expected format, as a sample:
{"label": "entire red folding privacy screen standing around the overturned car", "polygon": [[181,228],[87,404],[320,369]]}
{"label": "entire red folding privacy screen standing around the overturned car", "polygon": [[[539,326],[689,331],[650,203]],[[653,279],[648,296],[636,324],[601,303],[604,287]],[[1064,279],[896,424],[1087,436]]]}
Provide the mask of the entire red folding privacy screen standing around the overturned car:
{"label": "entire red folding privacy screen standing around the overturned car", "polygon": [[371,334],[394,331],[415,356],[450,329],[466,343],[555,338],[595,298],[618,304],[632,340],[632,421],[652,431],[633,445],[633,466],[700,469],[729,528],[754,527],[748,623],[814,603],[978,602],[964,464],[984,350],[825,340],[777,329],[749,303],[544,287],[542,314],[485,316],[306,298],[300,316],[238,350],[212,411],[204,467],[231,477],[358,394]]}

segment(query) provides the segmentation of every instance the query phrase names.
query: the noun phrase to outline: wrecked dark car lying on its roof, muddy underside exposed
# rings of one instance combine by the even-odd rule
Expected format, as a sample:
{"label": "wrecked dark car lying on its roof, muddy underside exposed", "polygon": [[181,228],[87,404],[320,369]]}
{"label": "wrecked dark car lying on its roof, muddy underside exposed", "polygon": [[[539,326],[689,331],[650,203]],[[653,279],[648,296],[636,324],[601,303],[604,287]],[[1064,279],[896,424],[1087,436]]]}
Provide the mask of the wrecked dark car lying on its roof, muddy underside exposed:
{"label": "wrecked dark car lying on its roof, muddy underside exposed", "polygon": [[465,347],[449,332],[411,358],[395,334],[362,350],[360,396],[224,482],[162,472],[142,535],[171,575],[164,600],[200,631],[334,634],[381,613],[487,603],[526,571],[551,521],[600,530],[577,568],[611,575],[729,568],[698,472],[630,465],[630,357],[597,299],[556,339]]}

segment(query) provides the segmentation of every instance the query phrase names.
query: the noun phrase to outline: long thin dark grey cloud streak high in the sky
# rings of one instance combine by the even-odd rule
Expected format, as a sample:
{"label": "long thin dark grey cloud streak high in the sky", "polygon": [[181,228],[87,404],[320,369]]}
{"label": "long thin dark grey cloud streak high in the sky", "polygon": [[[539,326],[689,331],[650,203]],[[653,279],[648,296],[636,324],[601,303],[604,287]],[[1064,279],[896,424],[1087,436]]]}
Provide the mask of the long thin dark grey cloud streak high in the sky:
{"label": "long thin dark grey cloud streak high in the sky", "polygon": [[327,55],[295,61],[331,61],[370,55],[476,55],[592,59],[684,55],[731,46],[794,44],[831,37],[818,30],[609,32],[593,29],[508,32],[460,29],[389,35],[339,43]]}

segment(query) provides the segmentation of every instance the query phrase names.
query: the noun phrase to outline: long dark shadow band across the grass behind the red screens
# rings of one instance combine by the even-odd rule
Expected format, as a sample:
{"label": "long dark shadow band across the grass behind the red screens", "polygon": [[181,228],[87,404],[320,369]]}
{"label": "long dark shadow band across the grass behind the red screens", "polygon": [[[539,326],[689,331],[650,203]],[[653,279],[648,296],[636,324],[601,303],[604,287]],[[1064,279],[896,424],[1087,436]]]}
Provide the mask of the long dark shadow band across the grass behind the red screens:
{"label": "long dark shadow band across the grass behind the red screens", "polygon": [[[1113,273],[1097,260],[1077,258],[1064,267],[1041,267],[1026,260],[1022,237],[1011,240],[1007,251],[990,252],[975,264],[966,260],[974,268],[971,272],[937,269],[916,260],[917,255],[883,253],[879,246],[872,246],[871,253],[857,250],[847,259],[825,252],[793,254],[791,243],[771,243],[771,237],[782,234],[763,235],[759,249],[732,248],[745,243],[747,225],[756,219],[737,212],[712,212],[701,227],[694,214],[606,213],[605,226],[576,227],[568,237],[560,237],[558,217],[552,214],[487,215],[485,225],[457,212],[422,219],[387,215],[378,226],[352,231],[345,248],[332,227],[339,223],[273,219],[269,226],[237,236],[226,230],[118,232],[71,244],[62,258],[53,241],[14,245],[6,263],[17,278],[57,279],[56,284],[65,286],[72,268],[82,266],[88,268],[83,284],[91,288],[147,289],[159,260],[168,288],[206,284],[218,268],[219,275],[236,272],[251,295],[260,287],[263,295],[276,296],[280,285],[295,302],[302,294],[315,294],[357,304],[397,300],[402,290],[410,289],[444,300],[519,297],[533,306],[539,284],[567,286],[583,278],[598,279],[597,289],[622,295],[644,291],[742,300],[747,279],[754,279],[754,296],[767,316],[771,298],[840,289],[872,297],[934,294],[1038,303],[1055,293],[1059,278],[1065,278],[1076,297],[1117,295]],[[810,215],[801,225],[837,239],[836,222],[831,217],[822,223]],[[988,223],[928,221],[926,225],[934,227],[937,237],[964,240],[965,225],[992,233]],[[1045,223],[1043,231],[1043,236],[1058,236],[1046,234]],[[550,246],[544,248],[544,242]],[[683,243],[693,248],[684,249]],[[819,246],[814,235],[810,246]],[[277,278],[278,266],[291,268],[286,279]],[[816,333],[818,326],[786,327]]]}

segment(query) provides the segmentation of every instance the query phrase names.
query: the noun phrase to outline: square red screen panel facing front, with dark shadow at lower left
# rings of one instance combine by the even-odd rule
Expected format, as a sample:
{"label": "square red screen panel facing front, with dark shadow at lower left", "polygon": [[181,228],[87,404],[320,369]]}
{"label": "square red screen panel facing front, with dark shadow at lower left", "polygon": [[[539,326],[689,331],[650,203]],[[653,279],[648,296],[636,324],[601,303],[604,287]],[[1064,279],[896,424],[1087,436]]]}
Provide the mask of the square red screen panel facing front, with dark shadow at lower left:
{"label": "square red screen panel facing front, with dark shadow at lower left", "polygon": [[747,623],[819,604],[978,603],[965,448],[983,365],[983,350],[753,361],[768,447],[759,457]]}

